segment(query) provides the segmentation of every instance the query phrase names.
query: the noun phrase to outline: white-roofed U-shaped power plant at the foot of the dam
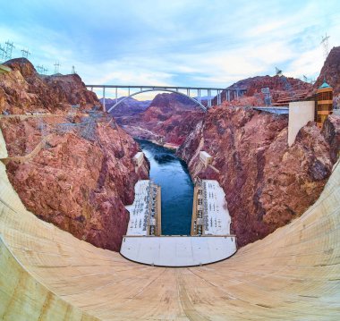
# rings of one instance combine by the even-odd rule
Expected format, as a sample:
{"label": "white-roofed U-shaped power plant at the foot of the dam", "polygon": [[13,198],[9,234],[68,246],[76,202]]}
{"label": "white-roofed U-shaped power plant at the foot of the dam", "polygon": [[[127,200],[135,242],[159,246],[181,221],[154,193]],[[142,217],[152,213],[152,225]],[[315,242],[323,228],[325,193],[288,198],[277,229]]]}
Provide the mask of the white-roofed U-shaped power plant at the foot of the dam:
{"label": "white-roofed U-shaped power plant at the foot of the dam", "polygon": [[[167,170],[171,171],[171,166]],[[162,235],[161,188],[150,180],[135,184],[135,199],[126,206],[130,220],[120,249],[124,258],[150,266],[183,267],[215,263],[234,255],[236,237],[230,235],[224,191],[217,181],[196,181],[190,236]],[[171,202],[167,202],[169,206]]]}

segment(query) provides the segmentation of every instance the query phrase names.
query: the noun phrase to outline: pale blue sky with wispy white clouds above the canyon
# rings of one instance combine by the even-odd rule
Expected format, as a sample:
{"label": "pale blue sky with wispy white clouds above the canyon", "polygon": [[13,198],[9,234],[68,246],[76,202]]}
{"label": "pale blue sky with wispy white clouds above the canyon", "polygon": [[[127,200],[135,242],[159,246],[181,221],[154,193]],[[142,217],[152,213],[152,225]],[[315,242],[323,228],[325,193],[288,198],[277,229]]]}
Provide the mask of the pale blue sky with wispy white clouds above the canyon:
{"label": "pale blue sky with wispy white clouds above the canyon", "polygon": [[274,75],[316,79],[321,39],[340,46],[339,0],[0,0],[0,44],[86,84],[225,88]]}

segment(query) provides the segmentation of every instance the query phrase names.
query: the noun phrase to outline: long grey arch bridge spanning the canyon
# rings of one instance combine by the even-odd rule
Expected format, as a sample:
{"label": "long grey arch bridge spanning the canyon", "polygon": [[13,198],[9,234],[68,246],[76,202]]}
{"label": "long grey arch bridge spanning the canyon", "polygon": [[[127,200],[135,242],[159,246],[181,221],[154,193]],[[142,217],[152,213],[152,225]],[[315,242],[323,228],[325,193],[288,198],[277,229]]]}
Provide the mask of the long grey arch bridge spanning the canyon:
{"label": "long grey arch bridge spanning the canyon", "polygon": [[[86,85],[88,89],[103,90],[103,108],[106,111],[106,89],[115,90],[115,105],[111,106],[107,112],[111,112],[116,106],[123,103],[124,100],[149,91],[167,91],[188,97],[195,102],[203,111],[207,111],[212,106],[213,100],[216,99],[217,106],[225,100],[231,101],[234,98],[244,95],[246,89],[222,89],[210,87],[178,87],[178,86],[122,86],[122,85]],[[118,90],[119,89],[119,90]],[[122,89],[126,90],[126,95],[122,95]],[[205,94],[206,95],[202,95]],[[212,94],[216,94],[213,96]],[[195,95],[195,96],[193,96]],[[215,98],[216,97],[216,98]],[[206,104],[205,104],[206,101]]]}

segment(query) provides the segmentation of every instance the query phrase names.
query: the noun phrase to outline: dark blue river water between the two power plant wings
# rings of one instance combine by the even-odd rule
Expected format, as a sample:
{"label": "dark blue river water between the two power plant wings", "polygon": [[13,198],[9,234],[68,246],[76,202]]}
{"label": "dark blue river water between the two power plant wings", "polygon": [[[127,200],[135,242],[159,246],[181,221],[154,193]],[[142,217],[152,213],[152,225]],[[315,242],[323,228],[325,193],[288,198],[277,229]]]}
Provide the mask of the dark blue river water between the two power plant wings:
{"label": "dark blue river water between the two power plant wings", "polygon": [[150,162],[150,179],[162,188],[162,234],[189,235],[193,184],[187,165],[168,148],[136,139]]}

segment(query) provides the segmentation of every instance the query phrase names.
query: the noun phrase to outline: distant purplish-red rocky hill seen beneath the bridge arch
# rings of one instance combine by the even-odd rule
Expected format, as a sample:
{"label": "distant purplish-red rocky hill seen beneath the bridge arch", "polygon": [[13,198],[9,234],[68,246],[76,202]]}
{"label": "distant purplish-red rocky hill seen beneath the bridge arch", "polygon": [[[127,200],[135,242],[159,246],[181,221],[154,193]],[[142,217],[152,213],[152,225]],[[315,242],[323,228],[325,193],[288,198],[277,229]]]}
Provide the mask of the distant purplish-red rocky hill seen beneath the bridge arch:
{"label": "distant purplish-red rocky hill seen beneath the bridge arch", "polygon": [[200,121],[203,112],[189,98],[178,94],[158,94],[145,112],[121,117],[117,122],[133,137],[181,145]]}

